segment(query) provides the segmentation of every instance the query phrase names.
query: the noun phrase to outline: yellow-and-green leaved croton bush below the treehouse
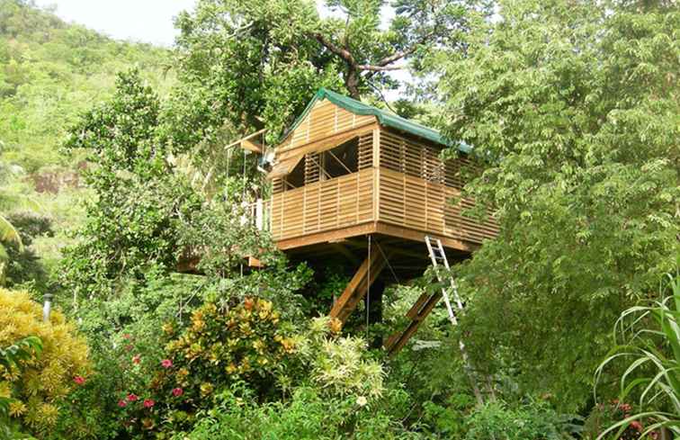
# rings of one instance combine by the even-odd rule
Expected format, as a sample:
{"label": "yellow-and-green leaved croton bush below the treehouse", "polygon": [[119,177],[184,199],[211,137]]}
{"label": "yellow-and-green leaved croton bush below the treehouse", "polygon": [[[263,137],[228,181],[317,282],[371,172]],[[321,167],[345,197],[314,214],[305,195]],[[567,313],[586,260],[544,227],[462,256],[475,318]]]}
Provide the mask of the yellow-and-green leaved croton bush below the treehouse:
{"label": "yellow-and-green leaved croton bush below the treehouse", "polygon": [[284,373],[283,358],[296,346],[291,328],[280,326],[280,318],[272,302],[257,298],[226,310],[204,304],[193,311],[188,328],[167,344],[173,367],[162,382],[168,383],[168,391],[182,387],[186,399],[198,405],[210,401],[212,390],[238,381],[247,382],[261,399],[275,393],[275,376]]}

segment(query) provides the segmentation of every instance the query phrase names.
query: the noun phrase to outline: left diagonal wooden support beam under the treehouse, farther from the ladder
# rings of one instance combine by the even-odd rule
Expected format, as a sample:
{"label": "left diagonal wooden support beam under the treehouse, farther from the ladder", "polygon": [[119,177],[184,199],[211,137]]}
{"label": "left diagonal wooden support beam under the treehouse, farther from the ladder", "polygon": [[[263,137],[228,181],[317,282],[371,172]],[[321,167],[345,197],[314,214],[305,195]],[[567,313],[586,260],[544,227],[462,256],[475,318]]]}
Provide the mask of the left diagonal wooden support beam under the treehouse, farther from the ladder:
{"label": "left diagonal wooden support beam under the treehouse, farther from the ladder", "polygon": [[356,274],[345,287],[344,292],[333,304],[330,311],[331,318],[340,319],[344,322],[356,309],[359,301],[362,301],[371,284],[375,282],[382,269],[387,265],[387,261],[380,252],[372,252],[371,256],[366,256]]}

